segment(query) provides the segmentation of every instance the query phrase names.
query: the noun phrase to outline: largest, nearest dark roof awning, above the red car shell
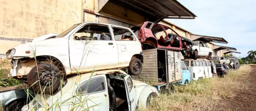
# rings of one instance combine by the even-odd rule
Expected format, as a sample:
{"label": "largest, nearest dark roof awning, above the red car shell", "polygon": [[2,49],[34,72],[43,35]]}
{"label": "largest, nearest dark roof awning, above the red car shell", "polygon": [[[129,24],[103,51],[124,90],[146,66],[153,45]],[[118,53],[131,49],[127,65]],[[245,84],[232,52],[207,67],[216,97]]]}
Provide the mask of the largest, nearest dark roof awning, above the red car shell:
{"label": "largest, nearest dark roof awning, above the red car shell", "polygon": [[165,18],[195,19],[197,17],[177,0],[109,0],[125,8],[148,14],[158,20]]}

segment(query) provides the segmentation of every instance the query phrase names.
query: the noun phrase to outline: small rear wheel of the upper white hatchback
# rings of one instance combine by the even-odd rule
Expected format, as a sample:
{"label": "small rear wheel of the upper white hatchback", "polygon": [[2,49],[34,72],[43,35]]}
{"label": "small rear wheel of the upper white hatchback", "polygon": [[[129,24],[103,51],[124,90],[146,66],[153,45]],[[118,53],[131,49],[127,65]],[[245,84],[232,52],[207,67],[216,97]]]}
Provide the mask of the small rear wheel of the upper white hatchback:
{"label": "small rear wheel of the upper white hatchback", "polygon": [[132,75],[138,76],[142,70],[141,61],[137,58],[132,59],[129,63],[128,70]]}

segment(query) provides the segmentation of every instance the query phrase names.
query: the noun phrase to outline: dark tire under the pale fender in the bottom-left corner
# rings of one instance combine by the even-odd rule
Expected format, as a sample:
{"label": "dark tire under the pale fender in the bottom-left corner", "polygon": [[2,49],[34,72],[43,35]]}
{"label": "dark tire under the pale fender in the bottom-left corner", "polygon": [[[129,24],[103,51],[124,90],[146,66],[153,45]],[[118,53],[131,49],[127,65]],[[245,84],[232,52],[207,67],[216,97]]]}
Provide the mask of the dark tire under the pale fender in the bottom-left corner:
{"label": "dark tire under the pale fender in the bottom-left corner", "polygon": [[6,111],[21,111],[21,108],[27,104],[25,99],[18,99],[16,101],[13,101],[10,105],[6,106]]}

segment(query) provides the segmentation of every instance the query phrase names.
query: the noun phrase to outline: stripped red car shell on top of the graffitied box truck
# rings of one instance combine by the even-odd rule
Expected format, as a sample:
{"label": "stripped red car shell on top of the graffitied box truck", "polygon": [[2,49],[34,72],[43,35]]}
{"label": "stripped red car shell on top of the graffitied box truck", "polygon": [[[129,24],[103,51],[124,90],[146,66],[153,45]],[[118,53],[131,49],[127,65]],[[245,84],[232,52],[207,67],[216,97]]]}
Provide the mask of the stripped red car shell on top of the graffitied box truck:
{"label": "stripped red car shell on top of the graffitied box truck", "polygon": [[[154,47],[154,48],[159,48],[159,49],[177,50],[177,51],[181,51],[182,45],[184,46],[184,44],[181,43],[181,37],[172,28],[162,25],[162,24],[152,23],[152,22],[147,21],[147,22],[140,23],[140,24],[132,27],[131,29],[138,36],[138,39],[142,43],[142,46],[150,45],[150,46],[152,46],[152,48]],[[163,33],[163,35],[158,37],[159,39],[157,39],[157,37],[153,33],[153,32],[158,33],[155,30],[157,30],[157,31],[163,30],[165,34],[163,33],[163,31],[161,31],[161,33]],[[163,36],[165,36],[165,38]],[[174,38],[174,39],[172,39],[172,38]],[[150,48],[150,49],[152,49],[152,48]],[[145,47],[143,47],[143,50],[144,49],[145,49]]]}

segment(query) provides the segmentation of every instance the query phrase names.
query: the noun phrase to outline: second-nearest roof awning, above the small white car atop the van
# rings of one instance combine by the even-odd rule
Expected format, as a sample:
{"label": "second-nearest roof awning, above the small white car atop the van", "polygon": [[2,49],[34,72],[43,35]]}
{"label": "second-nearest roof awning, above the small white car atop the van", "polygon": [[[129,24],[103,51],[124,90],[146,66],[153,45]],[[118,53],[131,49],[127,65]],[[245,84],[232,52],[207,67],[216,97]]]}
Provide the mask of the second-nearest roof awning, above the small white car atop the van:
{"label": "second-nearest roof awning, above the small white car atop the van", "polygon": [[228,43],[224,38],[220,37],[211,37],[211,36],[205,36],[205,35],[196,35],[196,34],[190,34],[190,39],[192,41],[202,41],[202,42],[218,42],[218,43]]}

